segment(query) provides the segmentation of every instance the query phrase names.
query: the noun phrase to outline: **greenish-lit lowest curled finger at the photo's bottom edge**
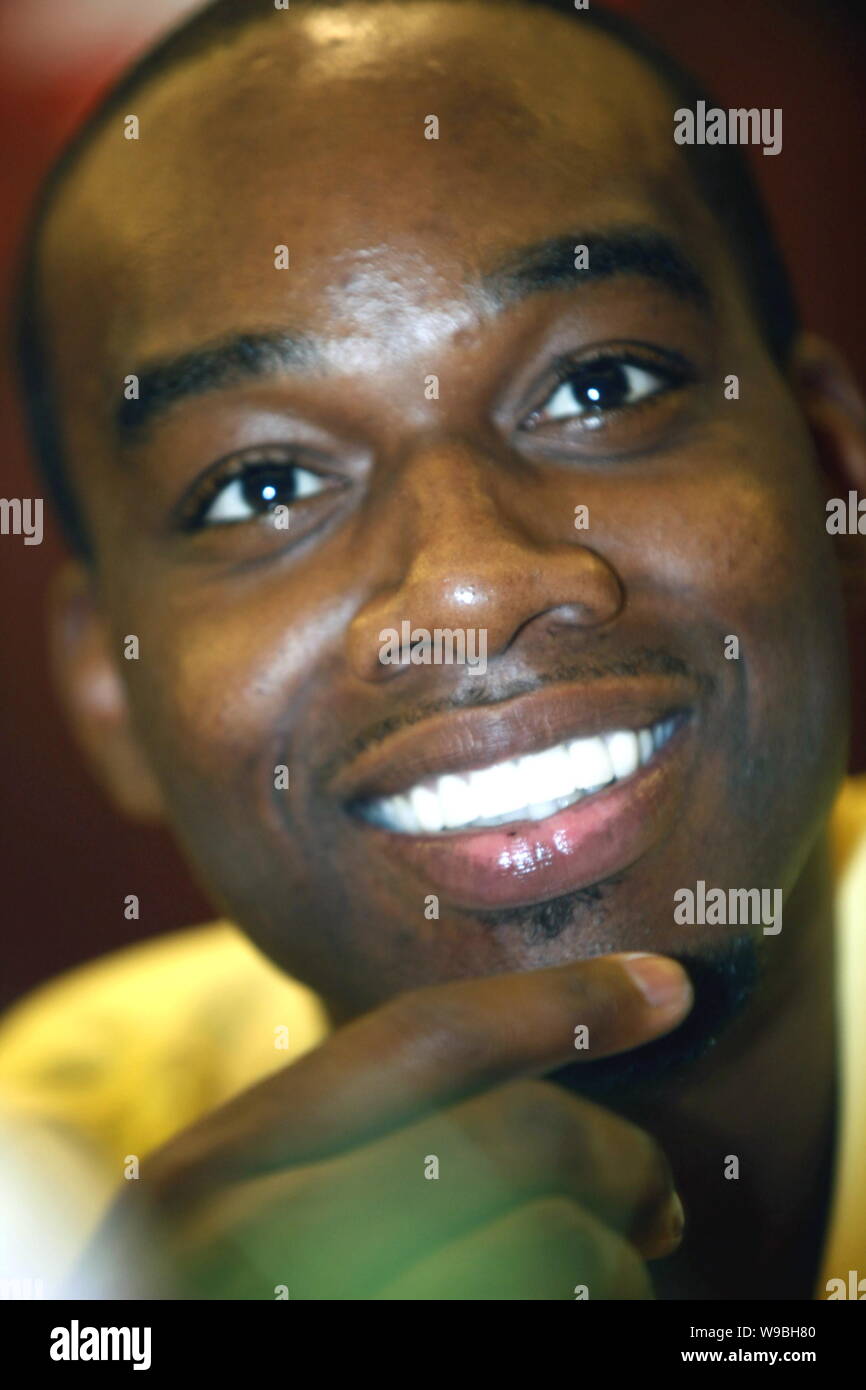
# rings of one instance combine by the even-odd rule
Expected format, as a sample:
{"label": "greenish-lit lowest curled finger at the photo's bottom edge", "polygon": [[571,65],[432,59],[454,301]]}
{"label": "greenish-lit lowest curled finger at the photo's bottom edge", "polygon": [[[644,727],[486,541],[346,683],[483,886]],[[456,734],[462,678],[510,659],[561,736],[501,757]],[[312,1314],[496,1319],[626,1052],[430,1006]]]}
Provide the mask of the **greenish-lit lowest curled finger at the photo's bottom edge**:
{"label": "greenish-lit lowest curled finger at the photo's bottom edge", "polygon": [[377,1300],[652,1298],[634,1248],[575,1202],[546,1197],[410,1266]]}

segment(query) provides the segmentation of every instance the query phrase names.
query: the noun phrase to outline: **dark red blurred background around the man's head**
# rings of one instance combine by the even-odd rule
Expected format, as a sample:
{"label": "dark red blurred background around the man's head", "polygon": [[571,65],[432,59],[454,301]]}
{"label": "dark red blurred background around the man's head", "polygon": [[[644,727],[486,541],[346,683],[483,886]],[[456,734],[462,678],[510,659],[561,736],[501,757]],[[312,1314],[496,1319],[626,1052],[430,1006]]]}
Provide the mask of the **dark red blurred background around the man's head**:
{"label": "dark red blurred background around the man's head", "polygon": [[[4,325],[22,220],[49,160],[113,74],[193,8],[183,0],[0,0]],[[758,177],[808,325],[833,338],[866,382],[862,0],[632,0],[612,8],[637,15],[723,106],[783,108],[783,152],[758,152]],[[0,495],[32,498],[42,486],[31,471],[10,357],[4,341]],[[83,959],[210,916],[170,840],[113,812],[65,733],[44,655],[46,587],[61,556],[47,518],[42,546],[0,537],[0,1008]],[[865,649],[858,644],[853,653],[859,691]],[[860,703],[855,770],[866,767]],[[129,892],[140,898],[139,922],[124,919]]]}

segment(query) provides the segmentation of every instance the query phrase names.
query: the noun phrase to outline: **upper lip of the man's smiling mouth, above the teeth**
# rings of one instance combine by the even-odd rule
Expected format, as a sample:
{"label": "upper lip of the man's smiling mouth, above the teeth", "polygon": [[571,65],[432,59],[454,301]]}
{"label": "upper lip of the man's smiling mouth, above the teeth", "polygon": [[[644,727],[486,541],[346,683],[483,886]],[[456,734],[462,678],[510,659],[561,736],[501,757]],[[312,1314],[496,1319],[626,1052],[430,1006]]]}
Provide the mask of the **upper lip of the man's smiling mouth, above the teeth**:
{"label": "upper lip of the man's smiling mouth, above the teeth", "polygon": [[573,738],[645,728],[694,701],[695,687],[670,676],[549,685],[400,728],[354,758],[331,785],[346,803],[393,796],[428,777],[489,767]]}

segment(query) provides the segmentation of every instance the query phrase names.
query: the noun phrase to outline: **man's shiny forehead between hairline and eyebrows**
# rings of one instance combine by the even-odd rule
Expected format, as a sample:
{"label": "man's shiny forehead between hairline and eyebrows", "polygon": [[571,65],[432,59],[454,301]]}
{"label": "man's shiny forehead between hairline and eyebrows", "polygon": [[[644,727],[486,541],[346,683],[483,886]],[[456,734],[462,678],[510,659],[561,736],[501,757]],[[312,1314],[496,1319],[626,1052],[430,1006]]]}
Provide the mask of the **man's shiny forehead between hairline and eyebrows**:
{"label": "man's shiny forehead between hairline and eyebrows", "polygon": [[44,240],[61,377],[82,349],[121,367],[284,320],[370,336],[459,297],[512,245],[620,221],[681,235],[706,215],[674,100],[580,21],[278,15],[158,78],[129,103],[139,139],[118,111],[86,154]]}

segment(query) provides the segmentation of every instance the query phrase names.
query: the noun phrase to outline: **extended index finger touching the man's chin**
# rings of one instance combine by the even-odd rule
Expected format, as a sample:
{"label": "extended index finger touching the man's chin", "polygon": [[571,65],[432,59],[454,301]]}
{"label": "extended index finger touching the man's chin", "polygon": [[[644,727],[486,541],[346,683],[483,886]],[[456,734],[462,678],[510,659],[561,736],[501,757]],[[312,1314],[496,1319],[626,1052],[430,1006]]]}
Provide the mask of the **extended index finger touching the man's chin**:
{"label": "extended index finger touching the man's chin", "polygon": [[691,1004],[681,966],[644,954],[414,990],[185,1130],[147,1176],[171,1188],[324,1156],[502,1081],[639,1047]]}

